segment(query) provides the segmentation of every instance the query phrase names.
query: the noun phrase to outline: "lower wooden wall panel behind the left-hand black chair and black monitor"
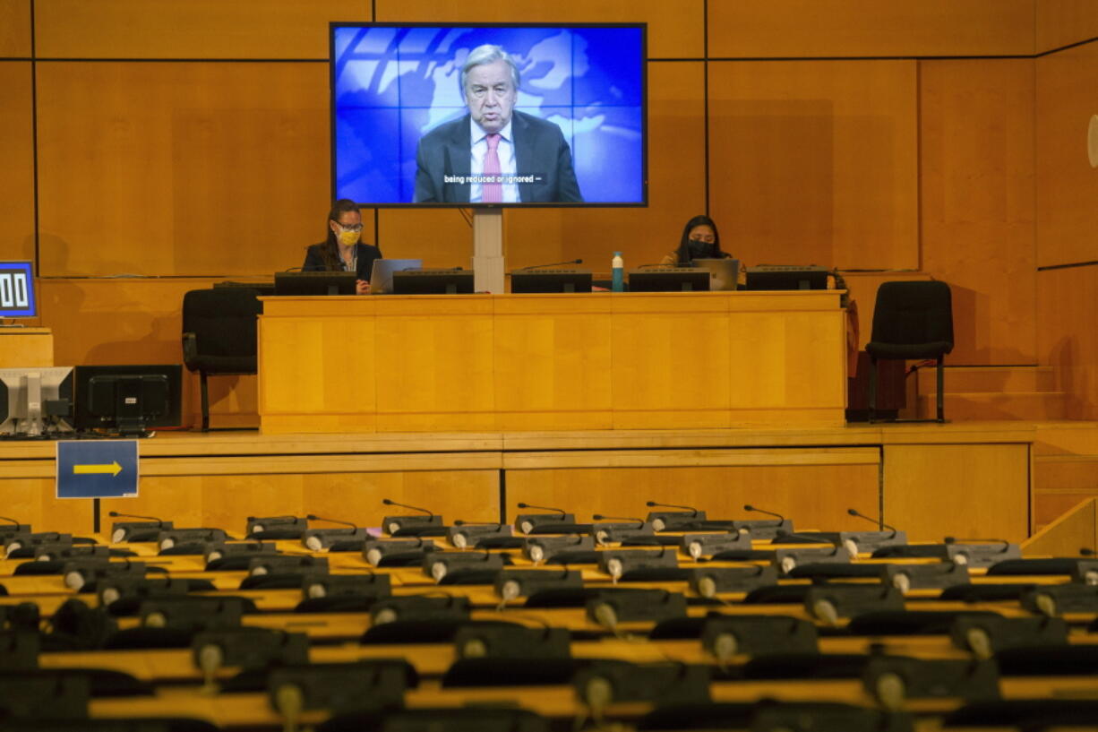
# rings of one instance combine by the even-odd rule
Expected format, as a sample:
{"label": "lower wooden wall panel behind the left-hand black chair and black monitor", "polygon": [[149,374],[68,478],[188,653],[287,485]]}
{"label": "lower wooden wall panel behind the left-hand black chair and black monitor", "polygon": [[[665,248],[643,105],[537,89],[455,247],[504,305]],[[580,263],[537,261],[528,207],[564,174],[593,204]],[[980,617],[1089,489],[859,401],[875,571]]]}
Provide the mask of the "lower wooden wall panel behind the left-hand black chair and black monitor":
{"label": "lower wooden wall panel behind the left-hand black chair and black monitor", "polygon": [[[212,280],[44,279],[40,280],[42,323],[54,331],[58,366],[181,364],[183,293]],[[183,369],[183,424],[199,414],[198,377]],[[254,376],[210,379],[213,426],[255,426],[258,400]]]}

